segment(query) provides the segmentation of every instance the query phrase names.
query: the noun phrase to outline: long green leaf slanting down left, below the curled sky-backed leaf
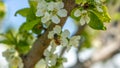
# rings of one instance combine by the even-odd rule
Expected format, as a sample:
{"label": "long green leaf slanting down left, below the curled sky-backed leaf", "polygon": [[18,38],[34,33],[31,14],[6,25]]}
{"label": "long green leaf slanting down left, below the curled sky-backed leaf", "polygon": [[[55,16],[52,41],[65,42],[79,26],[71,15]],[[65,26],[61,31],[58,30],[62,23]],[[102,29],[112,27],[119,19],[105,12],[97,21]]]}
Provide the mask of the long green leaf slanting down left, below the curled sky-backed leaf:
{"label": "long green leaf slanting down left, below the curled sky-backed leaf", "polygon": [[20,27],[19,30],[20,30],[20,32],[21,31],[29,31],[39,22],[40,22],[40,19],[36,19],[36,20],[31,21],[31,22],[25,22],[22,24],[22,26]]}

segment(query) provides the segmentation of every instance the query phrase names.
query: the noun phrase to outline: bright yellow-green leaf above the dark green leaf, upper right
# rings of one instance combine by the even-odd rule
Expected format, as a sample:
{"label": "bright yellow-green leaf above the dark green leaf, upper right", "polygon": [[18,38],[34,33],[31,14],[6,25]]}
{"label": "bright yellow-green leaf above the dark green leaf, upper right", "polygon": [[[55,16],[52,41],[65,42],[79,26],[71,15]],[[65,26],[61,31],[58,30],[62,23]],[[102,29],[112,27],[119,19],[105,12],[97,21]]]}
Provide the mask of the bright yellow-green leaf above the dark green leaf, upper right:
{"label": "bright yellow-green leaf above the dark green leaf, upper right", "polygon": [[95,13],[102,22],[110,22],[111,17],[107,11],[107,7],[102,6],[102,10],[103,12],[98,12],[97,10],[93,10],[92,12]]}

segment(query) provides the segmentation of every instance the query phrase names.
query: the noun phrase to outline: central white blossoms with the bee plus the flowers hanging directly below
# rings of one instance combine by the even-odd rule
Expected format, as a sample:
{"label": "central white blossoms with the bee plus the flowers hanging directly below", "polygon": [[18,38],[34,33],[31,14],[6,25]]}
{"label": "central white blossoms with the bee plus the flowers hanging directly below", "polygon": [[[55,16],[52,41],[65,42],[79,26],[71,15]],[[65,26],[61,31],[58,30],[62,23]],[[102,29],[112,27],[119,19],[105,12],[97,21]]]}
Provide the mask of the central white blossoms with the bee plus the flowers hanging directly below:
{"label": "central white blossoms with the bee plus the flowers hanging directly below", "polygon": [[63,62],[66,62],[66,58],[61,58],[55,53],[57,45],[67,47],[67,51],[71,46],[77,47],[79,45],[80,36],[73,36],[69,38],[70,32],[68,30],[62,31],[62,28],[56,25],[53,31],[50,31],[48,38],[51,39],[49,47],[44,51],[45,61],[48,67],[59,64],[59,68],[63,68]]}

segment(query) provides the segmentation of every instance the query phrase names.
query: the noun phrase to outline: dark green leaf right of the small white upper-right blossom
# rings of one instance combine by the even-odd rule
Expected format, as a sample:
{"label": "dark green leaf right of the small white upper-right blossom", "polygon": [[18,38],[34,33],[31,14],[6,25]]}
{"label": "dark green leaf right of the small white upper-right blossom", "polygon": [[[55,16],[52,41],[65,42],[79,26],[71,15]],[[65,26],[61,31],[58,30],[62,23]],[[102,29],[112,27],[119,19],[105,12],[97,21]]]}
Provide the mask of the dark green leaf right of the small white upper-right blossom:
{"label": "dark green leaf right of the small white upper-right blossom", "polygon": [[89,22],[89,26],[93,29],[97,29],[97,30],[105,30],[106,27],[103,25],[103,22],[99,19],[98,16],[96,16],[96,14],[94,14],[93,12],[89,13],[89,17],[90,17],[90,22]]}

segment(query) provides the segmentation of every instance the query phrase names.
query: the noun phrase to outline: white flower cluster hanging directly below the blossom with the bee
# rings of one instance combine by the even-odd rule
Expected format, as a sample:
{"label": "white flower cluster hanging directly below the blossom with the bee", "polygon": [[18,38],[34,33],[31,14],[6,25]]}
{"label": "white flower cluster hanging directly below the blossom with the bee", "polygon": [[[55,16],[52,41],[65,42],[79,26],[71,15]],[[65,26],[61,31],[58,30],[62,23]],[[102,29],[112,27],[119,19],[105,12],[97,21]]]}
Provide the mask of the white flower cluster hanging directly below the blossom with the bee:
{"label": "white flower cluster hanging directly below the blossom with the bee", "polygon": [[56,66],[56,64],[59,64],[59,66],[57,67],[63,68],[63,62],[66,62],[66,59],[62,58],[62,60],[59,60],[61,57],[59,57],[58,54],[55,53],[56,46],[53,43],[51,43],[49,47],[44,51],[45,62],[47,67],[50,68]]}

